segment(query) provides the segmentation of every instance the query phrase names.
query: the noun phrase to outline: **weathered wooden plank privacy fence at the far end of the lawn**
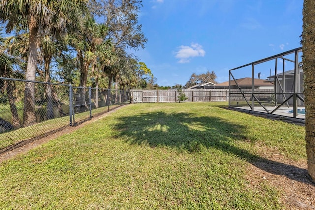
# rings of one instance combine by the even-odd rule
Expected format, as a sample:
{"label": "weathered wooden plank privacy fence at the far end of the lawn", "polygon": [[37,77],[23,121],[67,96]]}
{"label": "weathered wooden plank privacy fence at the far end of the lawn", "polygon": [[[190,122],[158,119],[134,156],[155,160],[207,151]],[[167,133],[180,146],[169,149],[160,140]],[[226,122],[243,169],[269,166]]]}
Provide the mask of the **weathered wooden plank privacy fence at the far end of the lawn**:
{"label": "weathered wooden plank privacy fence at the far end of the lawn", "polygon": [[[222,102],[228,101],[227,89],[183,90],[187,102]],[[130,90],[133,103],[176,102],[177,90]]]}

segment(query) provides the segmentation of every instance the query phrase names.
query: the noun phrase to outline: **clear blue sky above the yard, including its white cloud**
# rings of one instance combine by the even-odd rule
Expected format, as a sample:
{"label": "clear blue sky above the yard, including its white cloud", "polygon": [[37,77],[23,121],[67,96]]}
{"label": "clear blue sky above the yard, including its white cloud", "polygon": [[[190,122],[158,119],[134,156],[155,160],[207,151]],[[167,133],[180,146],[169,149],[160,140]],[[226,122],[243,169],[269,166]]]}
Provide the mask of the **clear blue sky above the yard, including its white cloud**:
{"label": "clear blue sky above the yard, including its white cloud", "polygon": [[[303,0],[143,0],[148,43],[134,54],[160,86],[228,70],[300,47]],[[247,76],[244,74],[244,77]],[[261,78],[269,75],[262,74]]]}

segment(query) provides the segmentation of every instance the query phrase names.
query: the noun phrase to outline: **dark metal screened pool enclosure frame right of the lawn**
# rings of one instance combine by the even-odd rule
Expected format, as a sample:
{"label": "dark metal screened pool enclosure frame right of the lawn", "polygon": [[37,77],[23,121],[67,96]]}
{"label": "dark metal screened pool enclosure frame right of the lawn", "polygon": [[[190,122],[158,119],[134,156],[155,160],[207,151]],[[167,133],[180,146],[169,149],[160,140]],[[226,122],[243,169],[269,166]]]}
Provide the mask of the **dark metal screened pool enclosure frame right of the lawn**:
{"label": "dark metal screened pool enclosure frame right of the lawn", "polygon": [[[253,112],[282,115],[285,117],[305,119],[303,70],[301,68],[302,47],[295,48],[268,58],[264,58],[229,70],[229,107],[250,110]],[[293,57],[289,59],[287,57]],[[258,90],[255,86],[255,67],[258,64],[274,62],[270,69],[270,76],[265,82],[272,83],[273,89]],[[283,70],[279,70],[279,63],[283,63]],[[287,70],[287,63],[294,65],[293,70]],[[235,77],[236,71],[251,68],[251,88],[244,89]],[[272,70],[273,69],[273,70]],[[260,74],[260,73],[259,73]],[[273,75],[272,75],[273,74]],[[287,81],[292,82],[286,84]],[[288,83],[288,82],[287,82]],[[291,85],[291,90],[286,87]],[[262,97],[261,97],[262,96]],[[236,103],[235,103],[236,102]],[[240,105],[242,104],[242,105]],[[304,111],[304,114],[301,113]]]}

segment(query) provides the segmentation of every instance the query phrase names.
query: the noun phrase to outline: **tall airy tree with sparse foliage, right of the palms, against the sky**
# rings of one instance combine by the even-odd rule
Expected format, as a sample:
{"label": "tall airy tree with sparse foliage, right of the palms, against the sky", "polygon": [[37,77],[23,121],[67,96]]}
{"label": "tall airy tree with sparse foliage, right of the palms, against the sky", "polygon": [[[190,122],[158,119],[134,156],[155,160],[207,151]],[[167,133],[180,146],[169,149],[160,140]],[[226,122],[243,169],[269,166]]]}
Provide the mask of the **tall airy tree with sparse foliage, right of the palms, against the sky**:
{"label": "tall airy tree with sparse foliage, right of the palms, against the sky", "polygon": [[[133,59],[126,55],[126,49],[144,48],[147,39],[142,32],[141,24],[138,24],[138,14],[142,7],[139,0],[90,0],[89,8],[92,15],[103,18],[104,24],[108,27],[107,38],[112,43],[119,59],[117,63],[105,65],[102,69],[108,75],[109,88],[113,81],[115,85],[123,88],[146,88],[151,80],[139,78],[139,69]],[[135,60],[135,59],[134,59]],[[123,68],[123,69],[121,69]],[[133,71],[133,72],[132,72]],[[123,84],[125,83],[125,84]]]}

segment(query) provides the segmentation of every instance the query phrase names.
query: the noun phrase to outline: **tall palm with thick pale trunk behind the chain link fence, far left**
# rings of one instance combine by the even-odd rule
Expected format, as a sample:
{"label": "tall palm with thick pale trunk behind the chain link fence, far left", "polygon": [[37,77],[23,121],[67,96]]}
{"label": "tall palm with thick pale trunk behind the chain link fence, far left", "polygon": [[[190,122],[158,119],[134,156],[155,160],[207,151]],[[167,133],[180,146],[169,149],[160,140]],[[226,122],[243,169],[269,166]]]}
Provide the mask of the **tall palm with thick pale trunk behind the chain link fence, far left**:
{"label": "tall palm with thick pale trunk behind the chain link fence, far left", "polygon": [[[5,0],[0,3],[0,21],[6,24],[6,32],[11,33],[14,28],[29,32],[26,80],[34,81],[36,78],[38,37],[54,26],[58,26],[61,32],[76,28],[87,9],[86,3],[87,0]],[[32,82],[25,84],[23,115],[25,126],[36,120],[35,86]]]}

